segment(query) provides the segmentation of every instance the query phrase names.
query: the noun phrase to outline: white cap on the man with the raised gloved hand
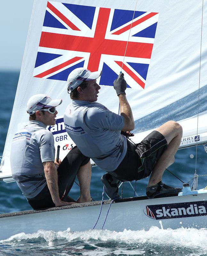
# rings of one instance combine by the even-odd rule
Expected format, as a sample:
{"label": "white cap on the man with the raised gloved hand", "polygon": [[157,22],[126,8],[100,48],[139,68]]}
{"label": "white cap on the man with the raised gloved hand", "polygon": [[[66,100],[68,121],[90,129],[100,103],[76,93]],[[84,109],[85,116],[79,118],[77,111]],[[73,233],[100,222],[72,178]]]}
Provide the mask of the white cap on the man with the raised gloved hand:
{"label": "white cap on the man with the raised gloved hand", "polygon": [[68,76],[68,90],[73,91],[83,81],[91,81],[102,75],[102,71],[91,72],[86,68],[76,68]]}

